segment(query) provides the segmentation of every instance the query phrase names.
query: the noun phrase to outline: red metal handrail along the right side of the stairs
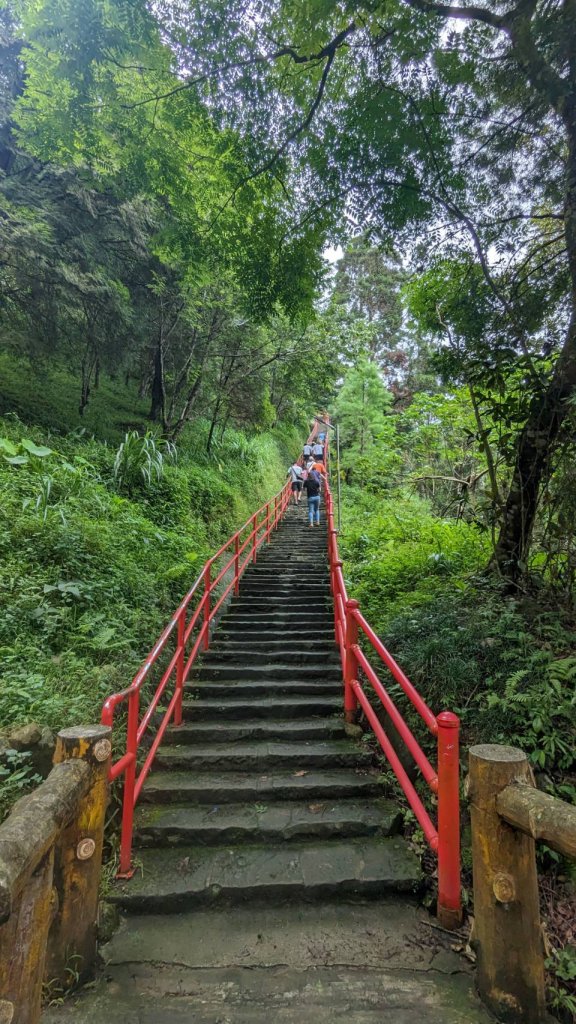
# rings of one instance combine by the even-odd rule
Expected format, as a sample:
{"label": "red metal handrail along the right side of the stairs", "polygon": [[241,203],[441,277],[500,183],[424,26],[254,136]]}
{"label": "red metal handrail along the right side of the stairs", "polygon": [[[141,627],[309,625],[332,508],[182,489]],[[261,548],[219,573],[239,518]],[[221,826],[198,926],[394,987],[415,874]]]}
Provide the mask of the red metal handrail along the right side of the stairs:
{"label": "red metal handrail along the right side of the stairs", "polygon": [[[318,433],[318,424],[311,440]],[[344,715],[348,722],[356,718],[360,707],[386,757],[412,808],[430,850],[438,856],[438,915],[444,927],[455,928],[461,920],[460,894],[460,800],[459,800],[459,721],[452,712],[436,716],[415,686],[410,682],[382,641],[374,633],[360,610],[358,601],[348,599],[342,562],[338,554],[337,530],[334,526],[334,502],[329,480],[329,439],[326,437],[327,473],[325,481],[326,515],[328,518],[328,558],[330,583],[334,601],[334,634],[340,651],[343,676]],[[437,737],[438,768],[429,763],[414,733],[405,721],[390,694],[378,677],[369,656],[360,644],[376,655],[399,684],[429,732]],[[376,711],[366,695],[362,679],[370,684],[379,698],[399,736],[419,768],[424,781],[438,798],[438,826],[435,826],[418,793],[410,780],[397,752],[386,735]]]}

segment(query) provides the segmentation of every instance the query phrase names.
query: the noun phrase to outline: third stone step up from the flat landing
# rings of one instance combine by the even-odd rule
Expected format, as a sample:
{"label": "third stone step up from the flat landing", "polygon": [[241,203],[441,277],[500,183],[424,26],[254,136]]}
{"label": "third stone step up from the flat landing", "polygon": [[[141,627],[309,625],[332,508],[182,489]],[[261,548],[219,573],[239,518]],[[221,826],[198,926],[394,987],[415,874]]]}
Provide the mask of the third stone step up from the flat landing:
{"label": "third stone step up from the flat landing", "polygon": [[271,800],[308,802],[340,798],[367,800],[381,797],[376,775],[341,770],[279,770],[257,772],[190,772],[155,769],[147,778],[140,799],[146,803],[235,804]]}

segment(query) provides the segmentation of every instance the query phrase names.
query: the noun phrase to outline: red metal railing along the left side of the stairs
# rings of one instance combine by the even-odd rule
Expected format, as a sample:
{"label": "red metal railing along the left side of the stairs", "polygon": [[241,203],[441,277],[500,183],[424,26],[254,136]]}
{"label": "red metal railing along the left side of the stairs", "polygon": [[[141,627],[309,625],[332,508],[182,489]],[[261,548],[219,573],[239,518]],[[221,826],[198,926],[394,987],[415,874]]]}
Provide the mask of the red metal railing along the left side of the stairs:
{"label": "red metal railing along the left side of the stairs", "polygon": [[[208,650],[214,616],[232,591],[236,595],[239,593],[242,575],[250,562],[256,561],[261,545],[270,543],[271,534],[277,529],[289,500],[290,484],[287,483],[208,559],[130,685],[110,696],[102,708],[102,725],[113,725],[116,709],[121,705],[127,706],[125,753],[113,763],[110,772],[111,780],[124,776],[120,878],[130,878],[133,873],[134,807],[168,725],[170,722],[181,724],[183,687],[190,671],[200,651]],[[159,674],[159,679],[140,716],[142,687],[147,682],[154,686],[154,672]],[[164,707],[167,698],[167,707]],[[152,732],[151,726],[154,726],[155,734],[147,745],[147,733]],[[143,760],[138,764],[140,750]]]}

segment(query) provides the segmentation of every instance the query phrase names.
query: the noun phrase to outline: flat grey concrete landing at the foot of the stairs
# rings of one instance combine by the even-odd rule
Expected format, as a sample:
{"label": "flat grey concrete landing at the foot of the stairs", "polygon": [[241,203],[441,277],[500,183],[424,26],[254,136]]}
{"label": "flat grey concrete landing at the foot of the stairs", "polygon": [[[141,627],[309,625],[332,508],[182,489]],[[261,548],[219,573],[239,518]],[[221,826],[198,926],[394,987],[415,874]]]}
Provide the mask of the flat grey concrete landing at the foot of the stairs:
{"label": "flat grey concrete landing at the foot of the stairs", "polygon": [[398,898],[131,916],[43,1024],[490,1024],[453,943]]}

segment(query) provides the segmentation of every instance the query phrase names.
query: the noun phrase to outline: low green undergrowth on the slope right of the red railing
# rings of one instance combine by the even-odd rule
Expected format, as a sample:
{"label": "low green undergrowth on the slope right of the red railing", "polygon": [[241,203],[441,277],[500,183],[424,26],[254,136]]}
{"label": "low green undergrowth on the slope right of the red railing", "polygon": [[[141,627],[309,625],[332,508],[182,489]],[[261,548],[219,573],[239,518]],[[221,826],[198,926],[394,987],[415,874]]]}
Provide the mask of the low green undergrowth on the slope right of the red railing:
{"label": "low green undergrowth on the slope right of the red railing", "polygon": [[483,535],[421,499],[353,492],[343,515],[351,592],[429,706],[461,717],[466,744],[521,746],[562,786],[576,768],[569,621],[480,577]]}

